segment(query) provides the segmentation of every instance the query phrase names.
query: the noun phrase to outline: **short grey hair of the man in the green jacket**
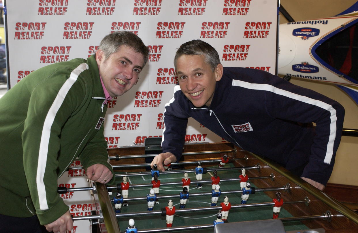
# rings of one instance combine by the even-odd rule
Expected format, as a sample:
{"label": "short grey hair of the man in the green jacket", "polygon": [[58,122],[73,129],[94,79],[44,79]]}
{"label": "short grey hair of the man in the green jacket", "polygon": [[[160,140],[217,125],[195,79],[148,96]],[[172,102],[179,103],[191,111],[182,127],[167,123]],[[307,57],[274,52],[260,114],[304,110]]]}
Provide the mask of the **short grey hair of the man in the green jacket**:
{"label": "short grey hair of the man in the green jacket", "polygon": [[143,55],[144,65],[147,63],[149,56],[149,49],[144,45],[142,40],[134,33],[130,31],[115,31],[111,34],[106,35],[98,49],[103,51],[105,59],[110,57],[112,53],[118,51],[121,46],[128,46],[132,48],[135,52]]}

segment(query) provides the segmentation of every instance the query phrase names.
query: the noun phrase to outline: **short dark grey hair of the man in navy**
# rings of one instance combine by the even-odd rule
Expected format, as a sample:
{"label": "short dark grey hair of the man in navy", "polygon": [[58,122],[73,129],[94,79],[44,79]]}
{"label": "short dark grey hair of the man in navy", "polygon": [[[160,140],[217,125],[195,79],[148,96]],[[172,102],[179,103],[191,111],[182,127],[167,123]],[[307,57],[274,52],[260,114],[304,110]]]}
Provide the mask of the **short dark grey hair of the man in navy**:
{"label": "short dark grey hair of the man in navy", "polygon": [[205,62],[211,67],[214,72],[217,65],[220,64],[220,58],[218,52],[208,43],[202,40],[190,40],[182,45],[175,53],[174,67],[176,69],[176,62],[182,55],[202,55],[205,58]]}

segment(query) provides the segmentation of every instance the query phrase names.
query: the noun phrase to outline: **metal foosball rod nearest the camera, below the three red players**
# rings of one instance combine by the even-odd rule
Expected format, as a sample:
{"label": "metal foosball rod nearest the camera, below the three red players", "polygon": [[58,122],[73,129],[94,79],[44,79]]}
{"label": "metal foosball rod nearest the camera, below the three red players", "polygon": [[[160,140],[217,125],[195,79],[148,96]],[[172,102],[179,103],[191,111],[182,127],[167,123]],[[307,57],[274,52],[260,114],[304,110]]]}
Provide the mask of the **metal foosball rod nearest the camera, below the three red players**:
{"label": "metal foosball rod nearest the camera, below the three red players", "polygon": [[[329,211],[327,211],[326,213],[323,213],[321,215],[308,215],[308,216],[301,216],[301,217],[280,218],[280,220],[282,220],[282,222],[311,220],[311,219],[323,219],[326,221],[330,221],[332,219],[332,217],[333,217],[332,214],[330,214]],[[252,222],[255,223],[255,221],[252,221]],[[182,231],[182,230],[199,230],[199,229],[208,229],[208,228],[214,228],[214,224],[144,229],[144,230],[137,230],[137,233],[174,232],[174,231]]]}

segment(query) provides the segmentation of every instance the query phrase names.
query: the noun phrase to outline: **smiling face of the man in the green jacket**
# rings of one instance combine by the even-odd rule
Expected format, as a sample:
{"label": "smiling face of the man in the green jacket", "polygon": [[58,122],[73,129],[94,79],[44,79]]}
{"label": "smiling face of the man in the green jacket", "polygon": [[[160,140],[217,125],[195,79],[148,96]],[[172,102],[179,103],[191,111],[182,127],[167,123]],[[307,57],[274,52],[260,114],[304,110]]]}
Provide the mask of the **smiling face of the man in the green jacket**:
{"label": "smiling face of the man in the green jacket", "polygon": [[144,64],[144,57],[125,45],[107,59],[101,49],[96,61],[104,86],[111,97],[121,96],[137,82]]}

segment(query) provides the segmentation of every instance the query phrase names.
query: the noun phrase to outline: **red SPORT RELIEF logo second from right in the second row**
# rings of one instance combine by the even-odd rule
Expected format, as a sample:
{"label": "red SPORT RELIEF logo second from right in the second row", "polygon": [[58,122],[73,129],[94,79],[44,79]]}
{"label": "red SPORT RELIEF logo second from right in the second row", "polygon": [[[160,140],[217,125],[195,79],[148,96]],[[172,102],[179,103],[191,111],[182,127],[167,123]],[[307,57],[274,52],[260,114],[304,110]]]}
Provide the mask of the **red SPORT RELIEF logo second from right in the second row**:
{"label": "red SPORT RELIEF logo second from right in the second row", "polygon": [[203,22],[200,38],[225,38],[230,22]]}

